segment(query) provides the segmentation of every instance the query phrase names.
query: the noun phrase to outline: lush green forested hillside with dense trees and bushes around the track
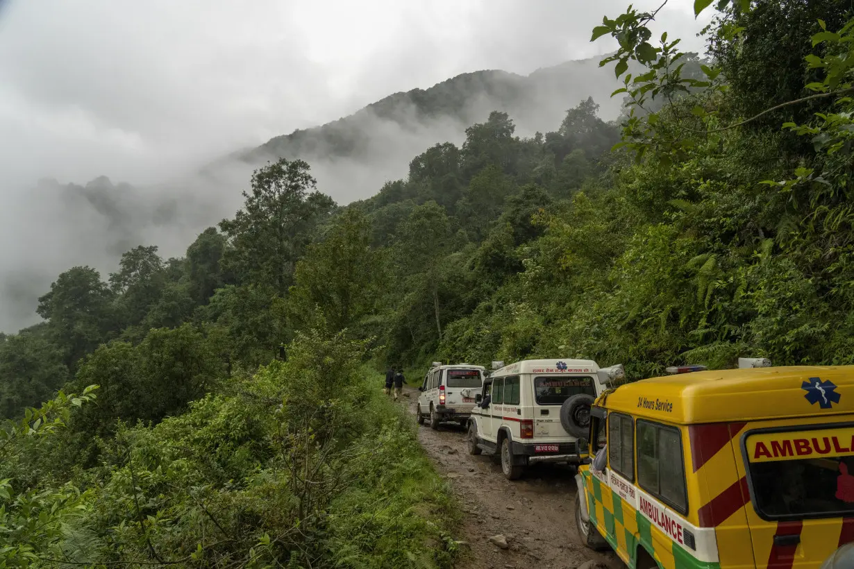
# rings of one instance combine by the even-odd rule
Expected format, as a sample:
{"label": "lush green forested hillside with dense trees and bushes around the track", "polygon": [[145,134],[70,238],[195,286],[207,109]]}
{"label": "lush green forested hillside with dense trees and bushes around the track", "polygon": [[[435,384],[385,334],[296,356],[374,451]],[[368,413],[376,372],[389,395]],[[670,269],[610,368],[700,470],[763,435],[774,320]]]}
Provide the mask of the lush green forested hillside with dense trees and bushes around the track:
{"label": "lush green forested hillside with dense trees and bushes around the track", "polygon": [[63,272],[0,339],[0,559],[448,566],[453,505],[371,368],[851,363],[849,8],[726,4],[702,75],[652,15],[594,31],[648,69],[619,125],[496,109],[346,207],[275,160],[184,257]]}

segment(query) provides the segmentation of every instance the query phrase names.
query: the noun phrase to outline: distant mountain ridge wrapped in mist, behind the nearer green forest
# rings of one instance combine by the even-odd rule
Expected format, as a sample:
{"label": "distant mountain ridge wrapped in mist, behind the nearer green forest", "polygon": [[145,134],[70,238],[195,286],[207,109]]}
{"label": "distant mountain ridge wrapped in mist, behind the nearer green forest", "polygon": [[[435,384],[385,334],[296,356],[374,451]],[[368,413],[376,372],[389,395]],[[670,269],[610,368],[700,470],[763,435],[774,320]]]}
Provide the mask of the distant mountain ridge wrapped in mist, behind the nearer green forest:
{"label": "distant mountain ridge wrapped in mist, behind the nearer green forest", "polygon": [[[509,113],[518,134],[553,129],[568,108],[588,96],[600,103],[604,119],[613,119],[621,104],[610,97],[617,81],[599,67],[601,58],[566,61],[528,76],[498,70],[463,73],[426,90],[387,96],[326,125],[276,136],[232,158],[250,164],[278,157],[372,161],[387,155],[390,145],[412,156],[413,150],[436,142],[462,140],[466,126],[494,110]],[[395,140],[389,142],[392,135]]]}

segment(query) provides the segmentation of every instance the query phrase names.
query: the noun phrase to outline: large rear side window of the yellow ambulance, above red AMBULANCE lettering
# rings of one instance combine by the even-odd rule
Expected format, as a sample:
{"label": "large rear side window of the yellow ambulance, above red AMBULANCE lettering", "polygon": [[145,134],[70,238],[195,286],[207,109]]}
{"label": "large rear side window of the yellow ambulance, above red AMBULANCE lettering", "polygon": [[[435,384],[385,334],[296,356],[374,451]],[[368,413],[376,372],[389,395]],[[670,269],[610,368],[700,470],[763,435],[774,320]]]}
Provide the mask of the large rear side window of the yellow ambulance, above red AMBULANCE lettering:
{"label": "large rear side window of the yellow ambulance, above red AMBULANCE lettering", "polygon": [[652,421],[637,421],[638,483],[645,491],[687,513],[685,461],[679,429]]}

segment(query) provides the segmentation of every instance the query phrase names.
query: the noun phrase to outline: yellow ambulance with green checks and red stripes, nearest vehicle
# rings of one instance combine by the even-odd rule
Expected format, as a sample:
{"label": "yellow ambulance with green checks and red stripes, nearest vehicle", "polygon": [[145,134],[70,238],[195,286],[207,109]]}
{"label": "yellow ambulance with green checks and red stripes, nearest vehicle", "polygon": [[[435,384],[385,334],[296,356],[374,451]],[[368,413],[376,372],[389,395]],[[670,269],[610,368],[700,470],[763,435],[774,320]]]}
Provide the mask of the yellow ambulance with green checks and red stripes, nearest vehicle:
{"label": "yellow ambulance with green checks and red stripes, nearest vehicle", "polygon": [[592,414],[579,508],[633,569],[818,569],[854,542],[854,366],[640,380]]}

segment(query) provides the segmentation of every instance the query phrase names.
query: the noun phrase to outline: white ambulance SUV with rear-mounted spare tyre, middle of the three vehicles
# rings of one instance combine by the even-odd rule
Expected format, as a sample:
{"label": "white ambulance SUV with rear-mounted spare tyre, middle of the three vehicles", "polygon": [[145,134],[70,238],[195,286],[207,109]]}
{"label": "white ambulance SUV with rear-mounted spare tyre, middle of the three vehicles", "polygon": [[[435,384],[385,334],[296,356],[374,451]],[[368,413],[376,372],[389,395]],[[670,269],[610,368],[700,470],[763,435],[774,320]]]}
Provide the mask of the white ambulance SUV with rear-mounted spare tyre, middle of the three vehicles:
{"label": "white ambulance SUV with rear-mounted spare tyre, middle of the three vehicles", "polygon": [[625,376],[623,366],[600,369],[592,360],[525,360],[484,381],[471,411],[468,446],[498,454],[507,479],[533,462],[579,462],[578,438],[588,436],[590,404]]}

